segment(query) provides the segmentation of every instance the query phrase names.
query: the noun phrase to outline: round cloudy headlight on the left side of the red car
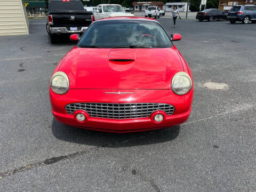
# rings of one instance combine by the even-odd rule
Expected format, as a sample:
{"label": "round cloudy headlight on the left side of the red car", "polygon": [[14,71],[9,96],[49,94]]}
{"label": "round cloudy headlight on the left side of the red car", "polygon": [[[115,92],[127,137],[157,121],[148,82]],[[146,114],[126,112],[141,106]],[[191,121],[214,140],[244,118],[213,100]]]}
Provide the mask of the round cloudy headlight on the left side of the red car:
{"label": "round cloudy headlight on the left side of the red car", "polygon": [[51,89],[54,93],[64,94],[68,91],[69,81],[68,76],[62,71],[53,74],[51,78]]}

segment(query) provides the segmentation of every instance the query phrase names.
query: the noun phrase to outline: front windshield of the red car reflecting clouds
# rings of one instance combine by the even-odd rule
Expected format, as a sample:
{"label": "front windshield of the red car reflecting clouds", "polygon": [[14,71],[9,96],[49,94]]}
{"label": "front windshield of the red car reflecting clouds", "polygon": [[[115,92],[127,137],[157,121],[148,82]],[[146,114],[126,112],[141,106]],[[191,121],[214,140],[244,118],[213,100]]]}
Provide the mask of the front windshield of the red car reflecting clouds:
{"label": "front windshield of the red car reflecting clouds", "polygon": [[164,29],[154,21],[98,21],[89,27],[79,41],[79,47],[102,48],[166,48],[172,43]]}

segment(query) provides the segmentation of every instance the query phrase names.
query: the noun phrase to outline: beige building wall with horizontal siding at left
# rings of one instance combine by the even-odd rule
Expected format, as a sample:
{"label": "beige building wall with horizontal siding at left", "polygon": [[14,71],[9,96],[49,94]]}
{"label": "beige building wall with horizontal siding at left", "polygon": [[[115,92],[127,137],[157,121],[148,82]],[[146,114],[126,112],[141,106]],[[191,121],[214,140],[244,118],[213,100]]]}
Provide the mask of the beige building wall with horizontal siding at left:
{"label": "beige building wall with horizontal siding at left", "polygon": [[0,0],[0,36],[28,34],[28,18],[21,0]]}

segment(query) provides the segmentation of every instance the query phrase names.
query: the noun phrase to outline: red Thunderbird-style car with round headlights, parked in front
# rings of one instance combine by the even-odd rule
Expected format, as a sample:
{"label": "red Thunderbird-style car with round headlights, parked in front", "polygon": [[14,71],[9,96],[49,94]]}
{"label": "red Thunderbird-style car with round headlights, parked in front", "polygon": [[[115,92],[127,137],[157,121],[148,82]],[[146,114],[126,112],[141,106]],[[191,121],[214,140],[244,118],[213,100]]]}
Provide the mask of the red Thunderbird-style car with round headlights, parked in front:
{"label": "red Thunderbird-style car with round headlights, parked in front", "polygon": [[193,101],[189,66],[154,19],[95,21],[59,62],[50,82],[57,121],[83,129],[135,132],[187,121]]}

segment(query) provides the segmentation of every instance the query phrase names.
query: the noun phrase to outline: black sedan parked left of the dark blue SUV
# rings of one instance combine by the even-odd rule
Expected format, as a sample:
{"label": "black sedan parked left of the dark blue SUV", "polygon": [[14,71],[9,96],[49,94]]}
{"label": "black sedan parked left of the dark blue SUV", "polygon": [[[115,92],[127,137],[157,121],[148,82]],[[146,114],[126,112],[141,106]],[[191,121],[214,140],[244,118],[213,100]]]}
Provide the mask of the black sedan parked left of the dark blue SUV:
{"label": "black sedan parked left of the dark blue SUV", "polygon": [[198,12],[196,14],[196,19],[199,21],[208,20],[220,20],[220,19],[227,19],[227,13],[220,9],[206,9],[204,11]]}

